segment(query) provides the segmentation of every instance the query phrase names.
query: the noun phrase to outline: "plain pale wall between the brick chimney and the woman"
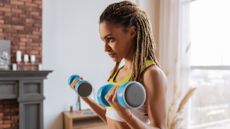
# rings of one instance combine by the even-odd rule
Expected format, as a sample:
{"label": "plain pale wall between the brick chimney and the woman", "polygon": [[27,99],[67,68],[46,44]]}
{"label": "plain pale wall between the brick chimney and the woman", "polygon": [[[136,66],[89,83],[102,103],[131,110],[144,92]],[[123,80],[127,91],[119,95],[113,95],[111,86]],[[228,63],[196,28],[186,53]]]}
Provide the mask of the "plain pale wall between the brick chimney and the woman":
{"label": "plain pale wall between the brick chimney and the woman", "polygon": [[71,74],[82,75],[95,89],[106,83],[113,61],[104,53],[98,20],[113,1],[43,1],[43,68],[53,70],[44,83],[45,129],[62,129],[61,113],[75,105],[76,94],[67,84]]}

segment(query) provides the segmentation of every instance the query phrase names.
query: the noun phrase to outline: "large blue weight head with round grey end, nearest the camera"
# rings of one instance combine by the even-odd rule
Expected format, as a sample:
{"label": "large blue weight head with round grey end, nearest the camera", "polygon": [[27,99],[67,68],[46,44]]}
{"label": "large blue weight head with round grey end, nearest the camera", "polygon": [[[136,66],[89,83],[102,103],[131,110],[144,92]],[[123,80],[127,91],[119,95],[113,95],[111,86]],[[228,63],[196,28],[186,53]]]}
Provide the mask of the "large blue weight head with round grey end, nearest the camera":
{"label": "large blue weight head with round grey end, nearest the camera", "polygon": [[145,99],[145,89],[139,82],[129,81],[118,88],[117,100],[124,108],[139,108],[144,104]]}

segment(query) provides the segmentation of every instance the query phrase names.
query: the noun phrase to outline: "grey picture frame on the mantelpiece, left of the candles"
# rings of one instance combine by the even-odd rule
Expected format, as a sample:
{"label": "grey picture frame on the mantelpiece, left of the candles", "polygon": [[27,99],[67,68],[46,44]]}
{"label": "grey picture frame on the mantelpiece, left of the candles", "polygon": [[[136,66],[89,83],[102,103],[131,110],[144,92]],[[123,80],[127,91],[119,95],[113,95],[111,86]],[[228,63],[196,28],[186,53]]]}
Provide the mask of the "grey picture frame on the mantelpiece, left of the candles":
{"label": "grey picture frame on the mantelpiece, left of the candles", "polygon": [[10,70],[11,65],[11,42],[0,40],[0,70]]}

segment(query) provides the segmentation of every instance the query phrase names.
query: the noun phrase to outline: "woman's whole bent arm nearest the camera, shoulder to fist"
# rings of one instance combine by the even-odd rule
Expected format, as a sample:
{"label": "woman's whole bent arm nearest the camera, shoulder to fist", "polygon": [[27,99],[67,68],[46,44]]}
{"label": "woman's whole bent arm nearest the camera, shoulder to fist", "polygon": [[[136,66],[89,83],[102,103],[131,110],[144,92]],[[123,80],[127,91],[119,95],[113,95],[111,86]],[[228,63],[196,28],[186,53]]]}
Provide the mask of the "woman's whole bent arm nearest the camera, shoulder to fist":
{"label": "woman's whole bent arm nearest the camera, shoulder to fist", "polygon": [[166,127],[166,77],[157,66],[151,66],[143,73],[143,84],[147,94],[147,111],[151,125],[147,125],[133,115],[128,109],[121,107],[115,97],[117,87],[106,95],[107,101],[123,117],[131,129],[167,129]]}

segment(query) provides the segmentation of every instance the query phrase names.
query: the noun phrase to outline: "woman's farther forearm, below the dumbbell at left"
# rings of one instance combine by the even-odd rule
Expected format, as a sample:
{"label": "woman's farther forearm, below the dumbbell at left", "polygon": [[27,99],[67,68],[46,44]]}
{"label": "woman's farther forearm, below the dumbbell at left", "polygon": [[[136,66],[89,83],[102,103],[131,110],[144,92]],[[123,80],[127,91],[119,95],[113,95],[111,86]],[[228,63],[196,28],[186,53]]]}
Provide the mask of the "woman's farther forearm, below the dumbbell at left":
{"label": "woman's farther forearm, below the dumbbell at left", "polygon": [[102,106],[98,105],[97,103],[95,103],[93,100],[87,98],[87,97],[82,97],[82,99],[97,113],[97,115],[105,122],[106,121],[106,116],[105,116],[105,108],[103,108]]}

